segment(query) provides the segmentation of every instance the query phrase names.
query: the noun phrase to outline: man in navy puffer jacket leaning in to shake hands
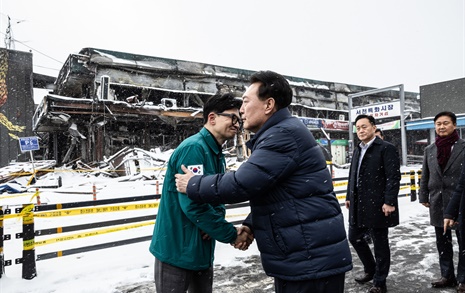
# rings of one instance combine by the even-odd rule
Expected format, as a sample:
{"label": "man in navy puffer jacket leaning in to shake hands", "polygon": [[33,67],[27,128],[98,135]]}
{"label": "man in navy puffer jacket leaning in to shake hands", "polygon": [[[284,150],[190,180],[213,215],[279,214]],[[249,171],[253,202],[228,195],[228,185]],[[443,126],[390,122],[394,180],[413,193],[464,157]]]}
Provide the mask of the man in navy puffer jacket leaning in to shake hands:
{"label": "man in navy puffer jacket leaning in to shake hands", "polygon": [[[323,153],[287,107],[292,89],[280,74],[259,71],[243,95],[252,155],[237,171],[176,174],[178,191],[206,203],[250,201],[250,227],[276,292],[344,292],[352,258]],[[246,245],[246,244],[244,244]]]}

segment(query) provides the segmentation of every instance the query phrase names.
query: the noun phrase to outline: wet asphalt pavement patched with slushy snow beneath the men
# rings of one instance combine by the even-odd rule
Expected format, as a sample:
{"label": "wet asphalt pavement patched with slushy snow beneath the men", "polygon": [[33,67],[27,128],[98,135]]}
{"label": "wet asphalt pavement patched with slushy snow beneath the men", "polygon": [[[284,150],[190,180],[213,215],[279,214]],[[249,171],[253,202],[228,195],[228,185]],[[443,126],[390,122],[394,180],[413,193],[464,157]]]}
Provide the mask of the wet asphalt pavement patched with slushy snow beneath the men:
{"label": "wet asphalt pavement patched with slushy snow beneath the men", "polygon": [[[387,279],[388,292],[456,292],[454,288],[431,288],[431,281],[440,276],[434,239],[434,230],[429,225],[427,209],[412,217],[410,221],[390,229],[392,261]],[[456,243],[454,247],[457,247]],[[345,292],[367,292],[370,284],[360,285],[354,281],[354,277],[361,274],[363,268],[353,250],[352,255],[354,269],[346,274]],[[242,262],[241,266],[215,266],[214,292],[274,292],[273,279],[263,272],[259,256],[238,259]],[[138,283],[116,288],[114,292],[155,292],[155,288],[151,282]]]}

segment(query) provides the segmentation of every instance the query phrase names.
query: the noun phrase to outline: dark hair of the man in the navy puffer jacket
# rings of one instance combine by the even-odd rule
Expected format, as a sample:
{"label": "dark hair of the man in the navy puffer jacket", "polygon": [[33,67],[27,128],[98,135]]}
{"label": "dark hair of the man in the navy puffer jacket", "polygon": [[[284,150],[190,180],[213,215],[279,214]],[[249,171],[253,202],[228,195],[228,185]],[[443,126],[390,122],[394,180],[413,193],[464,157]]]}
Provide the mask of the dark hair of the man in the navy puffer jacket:
{"label": "dark hair of the man in the navy puffer jacket", "polygon": [[279,73],[273,71],[258,71],[252,74],[250,82],[262,83],[258,89],[260,100],[273,98],[279,109],[286,108],[292,102],[292,89],[289,82]]}

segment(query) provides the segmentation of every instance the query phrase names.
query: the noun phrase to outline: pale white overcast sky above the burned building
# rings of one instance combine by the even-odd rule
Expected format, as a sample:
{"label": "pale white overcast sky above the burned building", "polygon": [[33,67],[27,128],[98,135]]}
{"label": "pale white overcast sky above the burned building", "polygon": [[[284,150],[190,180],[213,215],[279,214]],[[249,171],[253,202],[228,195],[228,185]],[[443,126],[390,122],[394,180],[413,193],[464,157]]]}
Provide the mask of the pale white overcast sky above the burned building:
{"label": "pale white overcast sky above the burned building", "polygon": [[1,47],[7,15],[52,76],[85,47],[413,92],[465,76],[464,0],[0,0]]}

